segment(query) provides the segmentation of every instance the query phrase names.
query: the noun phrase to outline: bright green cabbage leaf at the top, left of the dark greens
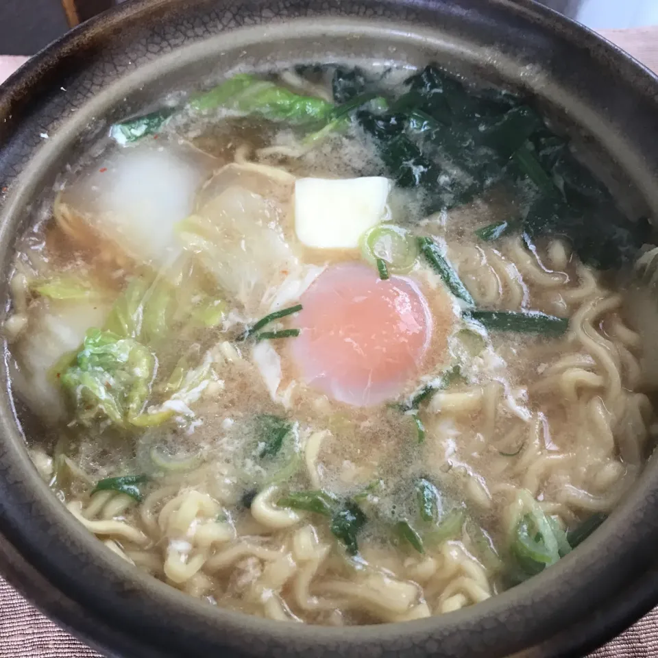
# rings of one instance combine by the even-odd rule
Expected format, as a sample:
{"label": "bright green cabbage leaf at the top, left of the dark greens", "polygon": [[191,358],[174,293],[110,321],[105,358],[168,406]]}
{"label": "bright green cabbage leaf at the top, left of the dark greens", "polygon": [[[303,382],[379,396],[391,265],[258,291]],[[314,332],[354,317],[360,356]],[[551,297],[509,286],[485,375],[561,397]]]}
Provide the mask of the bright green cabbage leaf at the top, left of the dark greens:
{"label": "bright green cabbage leaf at the top, left of the dark greens", "polygon": [[328,121],[334,106],[321,98],[302,96],[249,73],[239,73],[190,101],[195,110],[224,107],[245,114],[260,114],[269,121],[309,123]]}

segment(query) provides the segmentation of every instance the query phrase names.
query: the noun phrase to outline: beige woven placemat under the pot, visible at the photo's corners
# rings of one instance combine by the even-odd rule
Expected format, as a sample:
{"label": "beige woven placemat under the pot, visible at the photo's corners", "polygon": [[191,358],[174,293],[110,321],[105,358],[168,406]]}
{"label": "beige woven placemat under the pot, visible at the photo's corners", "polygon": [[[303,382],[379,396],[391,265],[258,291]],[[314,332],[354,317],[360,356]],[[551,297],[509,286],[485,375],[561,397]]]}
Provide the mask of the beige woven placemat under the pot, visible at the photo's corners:
{"label": "beige woven placemat under the pot, visible at the photo's corners", "polygon": [[[613,29],[602,34],[658,71],[658,27]],[[0,80],[18,63],[0,58]],[[656,657],[658,608],[589,658]],[[58,628],[0,578],[0,658],[99,658],[99,654]]]}

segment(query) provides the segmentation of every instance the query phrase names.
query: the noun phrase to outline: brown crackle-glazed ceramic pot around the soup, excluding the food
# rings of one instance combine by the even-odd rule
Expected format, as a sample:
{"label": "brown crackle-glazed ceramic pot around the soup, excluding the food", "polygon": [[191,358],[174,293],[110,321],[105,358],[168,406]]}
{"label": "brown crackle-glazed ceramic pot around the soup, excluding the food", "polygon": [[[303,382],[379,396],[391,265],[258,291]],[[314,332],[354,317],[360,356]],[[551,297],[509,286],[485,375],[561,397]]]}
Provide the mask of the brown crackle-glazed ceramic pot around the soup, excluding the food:
{"label": "brown crackle-glazed ceramic pot around the soup, excluding the food", "polygon": [[[531,0],[136,0],[30,60],[0,93],[0,265],[32,204],[108,123],[239,60],[386,58],[530,88],[658,216],[658,80]],[[3,278],[6,299],[6,277]],[[658,602],[658,465],[555,567],[439,618],[332,629],[215,609],[138,572],[88,535],[32,467],[5,369],[0,559],[49,616],[124,657],[582,655]],[[29,423],[24,425],[25,433]]]}

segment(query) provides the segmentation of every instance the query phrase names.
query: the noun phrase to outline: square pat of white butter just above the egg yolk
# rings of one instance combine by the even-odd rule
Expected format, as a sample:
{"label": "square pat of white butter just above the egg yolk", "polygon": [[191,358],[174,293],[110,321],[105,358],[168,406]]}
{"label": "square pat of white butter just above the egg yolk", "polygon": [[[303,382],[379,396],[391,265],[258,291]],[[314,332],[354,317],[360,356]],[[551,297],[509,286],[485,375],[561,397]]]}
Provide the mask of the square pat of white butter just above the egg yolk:
{"label": "square pat of white butter just above the egg yolk", "polygon": [[300,178],[295,182],[295,232],[308,247],[355,249],[369,228],[387,219],[391,181],[382,176]]}

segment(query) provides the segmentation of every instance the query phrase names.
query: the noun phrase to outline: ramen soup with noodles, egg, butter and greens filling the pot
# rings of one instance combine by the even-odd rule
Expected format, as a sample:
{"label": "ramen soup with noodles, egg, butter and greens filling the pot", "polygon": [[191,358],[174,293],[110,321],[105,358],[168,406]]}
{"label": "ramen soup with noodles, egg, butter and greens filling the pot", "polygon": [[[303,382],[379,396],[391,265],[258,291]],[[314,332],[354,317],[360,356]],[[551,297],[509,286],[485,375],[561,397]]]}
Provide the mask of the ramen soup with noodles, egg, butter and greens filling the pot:
{"label": "ramen soup with noodles, egg, butter and greens filling the pot", "polygon": [[191,596],[336,626],[586,539],[653,447],[648,221],[532,99],[439,66],[171,99],[16,249],[12,385],[71,514]]}

